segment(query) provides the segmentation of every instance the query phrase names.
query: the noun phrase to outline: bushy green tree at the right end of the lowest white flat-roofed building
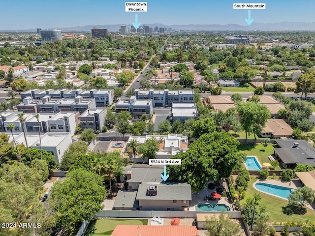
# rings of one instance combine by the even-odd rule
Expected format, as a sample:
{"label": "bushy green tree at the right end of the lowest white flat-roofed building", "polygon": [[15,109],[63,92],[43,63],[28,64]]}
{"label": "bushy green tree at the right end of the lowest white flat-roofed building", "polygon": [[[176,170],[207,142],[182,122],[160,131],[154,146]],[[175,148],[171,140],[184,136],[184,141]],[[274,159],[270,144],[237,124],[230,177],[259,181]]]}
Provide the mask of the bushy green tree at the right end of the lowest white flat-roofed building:
{"label": "bushy green tree at the right end of the lowest white flat-roofed building", "polygon": [[83,141],[72,143],[69,148],[63,153],[63,161],[60,165],[60,170],[67,171],[81,154],[86,154],[88,145]]}

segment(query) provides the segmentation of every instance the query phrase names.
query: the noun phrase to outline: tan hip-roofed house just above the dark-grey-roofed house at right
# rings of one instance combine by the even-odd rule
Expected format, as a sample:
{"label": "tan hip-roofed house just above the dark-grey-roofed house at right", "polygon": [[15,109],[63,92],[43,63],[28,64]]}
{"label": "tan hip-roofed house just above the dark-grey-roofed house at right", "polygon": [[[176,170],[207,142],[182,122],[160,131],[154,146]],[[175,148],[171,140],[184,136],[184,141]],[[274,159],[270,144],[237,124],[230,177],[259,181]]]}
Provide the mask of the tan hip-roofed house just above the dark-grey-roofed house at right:
{"label": "tan hip-roofed house just above the dark-grey-roofed house at right", "polygon": [[266,126],[261,132],[261,137],[279,139],[281,137],[290,138],[293,129],[283,119],[268,119]]}

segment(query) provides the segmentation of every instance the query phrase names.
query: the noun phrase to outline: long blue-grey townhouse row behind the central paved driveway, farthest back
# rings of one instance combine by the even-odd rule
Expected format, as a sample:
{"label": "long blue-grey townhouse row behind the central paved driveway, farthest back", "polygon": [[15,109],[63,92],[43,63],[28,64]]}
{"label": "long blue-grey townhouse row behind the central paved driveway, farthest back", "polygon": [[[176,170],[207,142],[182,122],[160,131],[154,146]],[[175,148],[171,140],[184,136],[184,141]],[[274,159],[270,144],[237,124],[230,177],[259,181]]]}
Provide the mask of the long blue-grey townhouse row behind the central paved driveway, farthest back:
{"label": "long blue-grey townhouse row behind the central paved driveway, farthest back", "polygon": [[137,99],[152,99],[153,107],[171,106],[173,102],[192,102],[193,90],[141,90],[135,89],[134,95]]}

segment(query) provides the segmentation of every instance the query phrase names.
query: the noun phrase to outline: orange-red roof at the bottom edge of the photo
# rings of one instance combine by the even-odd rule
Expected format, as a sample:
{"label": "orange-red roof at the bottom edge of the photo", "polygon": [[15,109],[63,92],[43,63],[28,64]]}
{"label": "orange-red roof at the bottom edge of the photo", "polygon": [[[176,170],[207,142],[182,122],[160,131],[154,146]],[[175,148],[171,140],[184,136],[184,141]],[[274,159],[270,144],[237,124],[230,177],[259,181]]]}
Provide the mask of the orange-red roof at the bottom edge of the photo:
{"label": "orange-red roof at the bottom edge of the photo", "polygon": [[195,226],[118,225],[111,236],[199,236]]}

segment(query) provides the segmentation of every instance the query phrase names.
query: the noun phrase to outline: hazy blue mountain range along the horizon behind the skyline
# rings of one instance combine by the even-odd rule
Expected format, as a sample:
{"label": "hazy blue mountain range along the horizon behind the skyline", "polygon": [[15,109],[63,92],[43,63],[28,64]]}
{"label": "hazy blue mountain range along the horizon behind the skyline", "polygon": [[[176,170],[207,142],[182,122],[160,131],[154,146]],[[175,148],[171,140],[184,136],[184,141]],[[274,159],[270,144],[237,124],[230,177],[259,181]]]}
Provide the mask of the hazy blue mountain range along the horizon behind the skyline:
{"label": "hazy blue mountain range along the horizon behind the skyline", "polygon": [[[118,31],[121,25],[125,24],[115,24],[115,25],[90,25],[90,26],[76,26],[76,27],[65,27],[58,28],[62,31],[91,31],[92,28],[96,27],[99,29],[108,29],[109,32]],[[159,28],[172,28],[173,30],[192,30],[192,31],[226,31],[226,30],[237,30],[237,31],[290,31],[290,30],[315,30],[315,22],[305,23],[305,22],[279,22],[279,23],[252,23],[251,26],[242,26],[236,24],[227,25],[163,25],[163,24],[147,24],[149,27]],[[130,28],[131,25],[126,25]],[[36,31],[36,29],[21,29],[21,30],[0,30],[0,31]]]}

